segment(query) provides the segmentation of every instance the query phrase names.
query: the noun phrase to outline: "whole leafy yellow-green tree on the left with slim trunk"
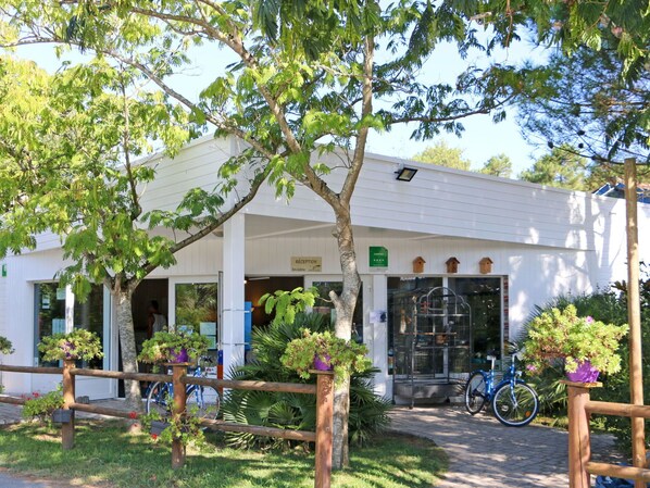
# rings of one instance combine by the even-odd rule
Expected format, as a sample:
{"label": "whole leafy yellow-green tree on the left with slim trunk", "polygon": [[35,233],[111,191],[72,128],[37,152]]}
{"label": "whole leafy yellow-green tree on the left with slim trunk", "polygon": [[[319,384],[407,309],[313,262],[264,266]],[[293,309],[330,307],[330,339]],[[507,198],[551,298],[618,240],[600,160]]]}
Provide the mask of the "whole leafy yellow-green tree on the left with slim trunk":
{"label": "whole leafy yellow-green tree on the left with slim trunk", "polygon": [[[254,196],[250,191],[225,212],[227,187],[197,188],[175,212],[142,212],[141,188],[155,171],[134,155],[164,141],[173,154],[188,139],[187,114],[160,92],[138,86],[134,68],[101,60],[48,75],[33,63],[0,62],[0,255],[36,246],[35,236],[62,239],[63,284],[83,300],[91,283],[103,283],[117,304],[125,372],[137,372],[132,297],[158,266],[214,230]],[[182,237],[152,236],[164,226]],[[141,410],[138,381],[127,381],[130,408]]]}

